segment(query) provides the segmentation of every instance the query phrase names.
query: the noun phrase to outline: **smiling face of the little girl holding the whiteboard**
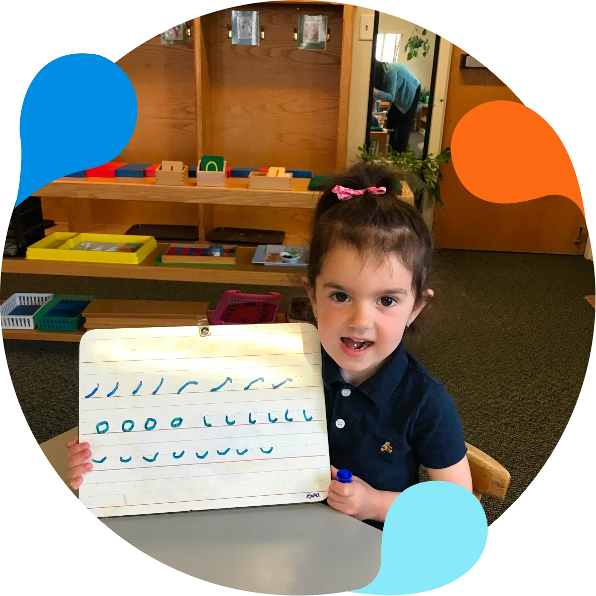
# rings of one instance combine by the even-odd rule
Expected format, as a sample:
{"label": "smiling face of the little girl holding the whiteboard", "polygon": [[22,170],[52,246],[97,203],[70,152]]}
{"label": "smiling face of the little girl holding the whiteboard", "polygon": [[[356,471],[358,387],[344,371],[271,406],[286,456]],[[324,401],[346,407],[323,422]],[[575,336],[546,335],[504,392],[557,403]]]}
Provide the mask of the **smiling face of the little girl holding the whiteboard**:
{"label": "smiling face of the little girl holding the whiteboard", "polygon": [[321,344],[352,384],[381,368],[424,306],[415,304],[412,274],[395,255],[379,265],[346,246],[325,256],[315,288],[307,289]]}

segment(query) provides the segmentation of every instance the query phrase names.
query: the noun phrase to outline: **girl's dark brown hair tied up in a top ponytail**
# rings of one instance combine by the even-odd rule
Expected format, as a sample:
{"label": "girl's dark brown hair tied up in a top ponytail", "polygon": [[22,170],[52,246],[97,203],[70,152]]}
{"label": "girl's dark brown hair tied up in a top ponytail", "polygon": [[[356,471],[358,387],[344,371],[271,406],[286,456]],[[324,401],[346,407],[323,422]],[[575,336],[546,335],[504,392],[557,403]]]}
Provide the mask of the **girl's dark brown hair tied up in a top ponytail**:
{"label": "girl's dark brown hair tied up in a top ponytail", "polygon": [[[379,261],[384,254],[395,254],[412,274],[415,300],[428,299],[433,238],[420,211],[400,198],[398,179],[403,178],[408,176],[399,170],[363,162],[325,184],[312,220],[308,280],[313,290],[325,256],[341,243]],[[332,192],[336,185],[387,190],[382,195],[365,192],[341,201]]]}

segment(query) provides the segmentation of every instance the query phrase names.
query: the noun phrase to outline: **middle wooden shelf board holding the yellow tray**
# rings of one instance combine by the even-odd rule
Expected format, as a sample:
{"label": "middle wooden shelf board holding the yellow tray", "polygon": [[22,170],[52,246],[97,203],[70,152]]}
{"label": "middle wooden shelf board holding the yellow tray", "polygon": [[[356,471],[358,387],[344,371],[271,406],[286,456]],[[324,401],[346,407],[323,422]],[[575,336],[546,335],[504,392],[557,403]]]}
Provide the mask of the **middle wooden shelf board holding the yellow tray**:
{"label": "middle wooden shelf board holding the yellow tray", "polygon": [[77,277],[111,277],[136,280],[198,281],[222,284],[300,285],[305,269],[253,265],[254,248],[238,247],[236,266],[196,267],[180,265],[154,265],[154,260],[167,244],[158,244],[140,265],[109,265],[107,263],[73,263],[65,261],[33,260],[25,257],[4,257],[0,263],[2,273],[30,275],[74,275]]}

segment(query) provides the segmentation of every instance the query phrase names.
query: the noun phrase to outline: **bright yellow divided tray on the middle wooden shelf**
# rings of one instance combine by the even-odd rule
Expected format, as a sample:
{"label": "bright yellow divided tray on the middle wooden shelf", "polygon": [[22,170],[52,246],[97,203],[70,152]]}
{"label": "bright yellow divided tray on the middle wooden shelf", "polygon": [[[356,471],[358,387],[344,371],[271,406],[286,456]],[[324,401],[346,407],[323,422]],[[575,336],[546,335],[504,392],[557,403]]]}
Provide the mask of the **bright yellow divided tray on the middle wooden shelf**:
{"label": "bright yellow divided tray on the middle wooden shelf", "polygon": [[[82,242],[139,243],[135,253],[116,253],[100,250],[72,250]],[[138,265],[157,248],[153,236],[128,236],[117,234],[75,234],[54,232],[27,248],[27,259],[66,260],[79,263],[120,263]]]}

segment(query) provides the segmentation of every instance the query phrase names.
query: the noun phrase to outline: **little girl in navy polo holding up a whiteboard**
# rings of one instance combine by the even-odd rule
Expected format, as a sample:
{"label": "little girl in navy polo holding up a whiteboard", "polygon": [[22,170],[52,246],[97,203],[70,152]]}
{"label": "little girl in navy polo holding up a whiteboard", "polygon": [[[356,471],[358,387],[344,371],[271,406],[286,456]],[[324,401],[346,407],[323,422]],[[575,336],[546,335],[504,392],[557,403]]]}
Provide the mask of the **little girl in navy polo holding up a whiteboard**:
{"label": "little girl in navy polo holding up a whiteboard", "polygon": [[[430,480],[472,490],[454,401],[403,348],[433,296],[433,241],[421,213],[398,197],[396,173],[359,164],[331,181],[316,206],[302,283],[318,322],[331,457],[327,504],[382,529],[400,492]],[[67,443],[77,489],[91,452]],[[352,482],[337,481],[337,470]]]}

